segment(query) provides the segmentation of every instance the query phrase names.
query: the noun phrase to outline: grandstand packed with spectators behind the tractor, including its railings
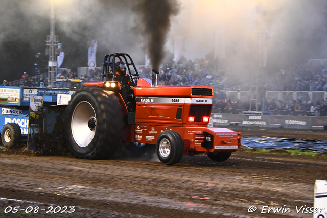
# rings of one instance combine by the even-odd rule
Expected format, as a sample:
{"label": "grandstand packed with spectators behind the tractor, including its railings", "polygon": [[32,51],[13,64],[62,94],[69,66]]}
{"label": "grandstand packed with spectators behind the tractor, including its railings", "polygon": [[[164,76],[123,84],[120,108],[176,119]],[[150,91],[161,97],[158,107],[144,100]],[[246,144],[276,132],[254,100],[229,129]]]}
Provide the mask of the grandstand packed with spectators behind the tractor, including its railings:
{"label": "grandstand packed with spectators behind the tractor, including its railings", "polygon": [[[241,64],[239,68],[246,68],[245,74],[247,75],[253,69],[243,66],[244,64]],[[261,111],[262,114],[272,115],[325,116],[327,113],[327,106],[325,106],[327,99],[326,66],[327,59],[309,60],[305,64],[280,70],[269,77],[258,79],[259,77],[251,76],[245,83],[230,86],[232,83],[229,81],[233,81],[233,83],[237,81],[233,80],[232,74],[227,74],[226,70],[201,58],[195,59],[194,62],[188,60],[175,65],[162,64],[159,82],[163,85],[214,87],[213,111],[219,113],[239,114],[248,111]],[[147,66],[139,65],[137,68],[141,77],[151,77],[151,74],[148,73],[151,70]],[[75,76],[72,76],[69,71],[69,68],[58,69],[56,87],[78,88],[83,82],[97,81],[100,79],[101,67],[97,67],[94,71],[87,67],[79,67]],[[8,85],[39,87],[42,80],[46,86],[45,76],[21,78],[9,82]],[[255,84],[254,89],[253,84]],[[218,105],[216,99],[221,105]],[[274,102],[275,106],[270,105],[271,102]],[[228,110],[225,108],[227,103],[231,105]],[[301,109],[295,109],[296,104],[296,107]]]}

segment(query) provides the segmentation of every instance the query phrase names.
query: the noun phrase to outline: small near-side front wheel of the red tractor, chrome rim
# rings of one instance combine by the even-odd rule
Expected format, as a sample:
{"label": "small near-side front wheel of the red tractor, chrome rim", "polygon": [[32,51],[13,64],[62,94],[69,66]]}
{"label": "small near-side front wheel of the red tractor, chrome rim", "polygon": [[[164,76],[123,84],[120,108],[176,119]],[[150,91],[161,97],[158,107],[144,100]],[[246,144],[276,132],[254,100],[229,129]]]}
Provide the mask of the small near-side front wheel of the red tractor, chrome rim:
{"label": "small near-side front wheel of the red tractor, chrome rim", "polygon": [[156,143],[156,153],[159,160],[167,165],[180,161],[184,153],[184,143],[180,135],[172,130],[160,133]]}

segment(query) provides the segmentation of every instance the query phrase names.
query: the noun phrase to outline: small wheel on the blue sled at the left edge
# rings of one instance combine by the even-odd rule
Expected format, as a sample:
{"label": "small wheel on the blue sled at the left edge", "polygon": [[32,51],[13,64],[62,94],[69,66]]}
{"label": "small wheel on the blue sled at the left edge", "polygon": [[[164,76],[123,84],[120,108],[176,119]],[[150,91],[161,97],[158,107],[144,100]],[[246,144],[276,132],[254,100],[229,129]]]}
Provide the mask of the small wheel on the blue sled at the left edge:
{"label": "small wheel on the blue sled at the left edge", "polygon": [[8,123],[1,132],[1,140],[6,149],[14,149],[21,144],[21,130],[18,124]]}

